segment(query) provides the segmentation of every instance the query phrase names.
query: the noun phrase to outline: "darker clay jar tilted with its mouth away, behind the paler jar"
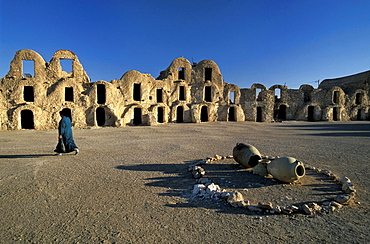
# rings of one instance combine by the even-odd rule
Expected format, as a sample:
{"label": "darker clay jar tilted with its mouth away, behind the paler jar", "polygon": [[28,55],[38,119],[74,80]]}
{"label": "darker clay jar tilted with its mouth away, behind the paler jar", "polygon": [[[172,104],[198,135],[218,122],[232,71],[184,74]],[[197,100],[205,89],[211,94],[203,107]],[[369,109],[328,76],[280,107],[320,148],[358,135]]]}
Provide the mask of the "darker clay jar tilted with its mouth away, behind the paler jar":
{"label": "darker clay jar tilted with its mouth away, behind the paler jar", "polygon": [[261,154],[252,145],[237,143],[233,149],[233,157],[236,162],[246,168],[253,168],[261,160]]}

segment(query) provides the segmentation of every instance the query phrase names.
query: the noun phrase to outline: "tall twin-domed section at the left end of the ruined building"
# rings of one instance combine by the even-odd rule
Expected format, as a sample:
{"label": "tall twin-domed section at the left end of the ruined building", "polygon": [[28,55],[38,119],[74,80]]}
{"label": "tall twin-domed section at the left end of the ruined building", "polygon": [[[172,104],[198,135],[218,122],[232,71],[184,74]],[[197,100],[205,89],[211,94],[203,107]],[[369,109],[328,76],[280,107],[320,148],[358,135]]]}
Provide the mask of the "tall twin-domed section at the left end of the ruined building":
{"label": "tall twin-domed section at the left end of the ruined building", "polygon": [[[71,72],[62,70],[60,60],[71,60]],[[32,74],[23,72],[24,61],[33,62]],[[68,108],[73,110],[73,123],[85,127],[85,109],[88,98],[78,94],[84,90],[83,85],[89,78],[82,69],[75,54],[67,50],[55,52],[49,63],[32,50],[18,51],[10,63],[8,74],[1,79],[1,90],[7,101],[6,129],[22,128],[48,129],[55,128],[59,121],[59,111]],[[70,91],[67,96],[65,88]],[[22,119],[23,118],[23,119]]]}

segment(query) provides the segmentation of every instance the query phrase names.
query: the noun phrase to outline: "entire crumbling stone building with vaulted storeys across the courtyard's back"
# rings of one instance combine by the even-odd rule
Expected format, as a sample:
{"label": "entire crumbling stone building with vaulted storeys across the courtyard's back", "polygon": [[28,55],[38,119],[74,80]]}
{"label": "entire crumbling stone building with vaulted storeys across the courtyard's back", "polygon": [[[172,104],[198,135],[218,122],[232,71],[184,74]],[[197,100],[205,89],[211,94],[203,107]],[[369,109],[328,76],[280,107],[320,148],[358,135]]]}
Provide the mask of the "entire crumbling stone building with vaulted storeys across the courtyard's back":
{"label": "entire crumbling stone building with vaulted storeys across the courtyard's back", "polygon": [[[64,70],[69,61],[70,70]],[[29,73],[25,62],[30,62]],[[64,62],[63,62],[64,63]],[[163,123],[369,119],[370,71],[324,80],[318,89],[226,83],[211,60],[177,58],[160,72],[128,71],[119,80],[91,82],[77,56],[58,50],[50,62],[20,50],[0,79],[0,130],[57,128],[65,109],[76,127]]]}

